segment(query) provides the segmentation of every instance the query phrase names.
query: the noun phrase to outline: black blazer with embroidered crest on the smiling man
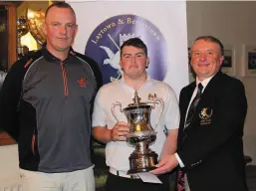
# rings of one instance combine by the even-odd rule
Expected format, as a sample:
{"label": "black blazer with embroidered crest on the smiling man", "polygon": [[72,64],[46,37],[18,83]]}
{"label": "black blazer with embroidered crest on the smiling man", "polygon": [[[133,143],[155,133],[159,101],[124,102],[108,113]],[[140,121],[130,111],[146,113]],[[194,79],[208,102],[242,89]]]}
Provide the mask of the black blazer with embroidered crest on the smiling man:
{"label": "black blazer with embroidered crest on the smiling man", "polygon": [[208,83],[184,129],[195,82],[179,97],[178,151],[191,191],[247,191],[243,126],[247,100],[242,83],[218,72]]}

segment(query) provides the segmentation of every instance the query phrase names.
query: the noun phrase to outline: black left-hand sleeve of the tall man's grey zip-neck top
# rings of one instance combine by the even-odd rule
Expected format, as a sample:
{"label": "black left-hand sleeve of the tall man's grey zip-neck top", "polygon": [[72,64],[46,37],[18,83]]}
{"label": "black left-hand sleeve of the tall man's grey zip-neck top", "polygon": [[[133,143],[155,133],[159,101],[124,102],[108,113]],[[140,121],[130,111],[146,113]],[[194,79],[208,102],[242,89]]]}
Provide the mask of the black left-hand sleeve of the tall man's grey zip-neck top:
{"label": "black left-hand sleeve of the tall man's grey zip-neck top", "polygon": [[0,124],[16,141],[19,137],[18,104],[24,77],[23,61],[16,62],[8,72],[0,92]]}

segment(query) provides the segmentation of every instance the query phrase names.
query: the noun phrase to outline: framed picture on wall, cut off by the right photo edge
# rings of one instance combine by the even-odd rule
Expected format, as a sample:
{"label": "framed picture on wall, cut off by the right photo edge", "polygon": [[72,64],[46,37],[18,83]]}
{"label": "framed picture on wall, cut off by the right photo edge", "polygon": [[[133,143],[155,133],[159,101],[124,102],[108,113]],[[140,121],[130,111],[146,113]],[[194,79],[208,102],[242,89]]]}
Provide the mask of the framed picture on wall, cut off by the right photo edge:
{"label": "framed picture on wall, cut off by the right photo edge", "polygon": [[242,45],[243,77],[256,77],[256,45]]}

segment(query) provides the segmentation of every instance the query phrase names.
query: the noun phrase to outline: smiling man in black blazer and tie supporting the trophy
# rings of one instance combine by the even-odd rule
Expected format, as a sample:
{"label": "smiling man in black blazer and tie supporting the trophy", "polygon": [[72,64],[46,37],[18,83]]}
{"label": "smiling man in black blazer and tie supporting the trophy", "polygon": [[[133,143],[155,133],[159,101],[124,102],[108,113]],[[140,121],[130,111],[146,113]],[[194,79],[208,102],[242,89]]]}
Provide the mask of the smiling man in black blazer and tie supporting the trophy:
{"label": "smiling man in black blazer and tie supporting the trophy", "polygon": [[179,96],[177,152],[153,174],[177,167],[177,191],[247,191],[243,126],[247,100],[242,83],[220,72],[223,45],[211,36],[191,47],[196,81]]}

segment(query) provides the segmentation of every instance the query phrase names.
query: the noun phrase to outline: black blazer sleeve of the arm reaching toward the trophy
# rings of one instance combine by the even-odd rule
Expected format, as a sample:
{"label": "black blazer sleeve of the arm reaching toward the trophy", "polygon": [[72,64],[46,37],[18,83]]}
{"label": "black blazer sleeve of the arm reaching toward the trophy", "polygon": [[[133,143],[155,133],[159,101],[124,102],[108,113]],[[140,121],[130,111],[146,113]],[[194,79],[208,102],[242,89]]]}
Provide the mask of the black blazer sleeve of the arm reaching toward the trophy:
{"label": "black blazer sleeve of the arm reaching toward the trophy", "polygon": [[241,82],[229,81],[217,94],[215,110],[209,126],[194,126],[177,152],[186,168],[207,160],[232,138],[241,138],[247,112],[247,100]]}

